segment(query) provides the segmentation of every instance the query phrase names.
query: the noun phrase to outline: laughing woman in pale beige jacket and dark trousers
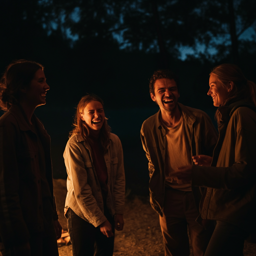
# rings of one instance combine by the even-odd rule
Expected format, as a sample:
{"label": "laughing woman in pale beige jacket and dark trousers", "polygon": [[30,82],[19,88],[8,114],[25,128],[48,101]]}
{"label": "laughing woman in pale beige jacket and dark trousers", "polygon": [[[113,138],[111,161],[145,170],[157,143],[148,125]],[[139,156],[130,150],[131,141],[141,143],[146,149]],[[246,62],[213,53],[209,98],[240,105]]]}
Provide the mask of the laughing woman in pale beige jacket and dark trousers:
{"label": "laughing woman in pale beige jacket and dark trousers", "polygon": [[65,216],[74,256],[111,256],[114,229],[123,228],[124,169],[119,138],[110,132],[103,101],[83,96],[64,159]]}

